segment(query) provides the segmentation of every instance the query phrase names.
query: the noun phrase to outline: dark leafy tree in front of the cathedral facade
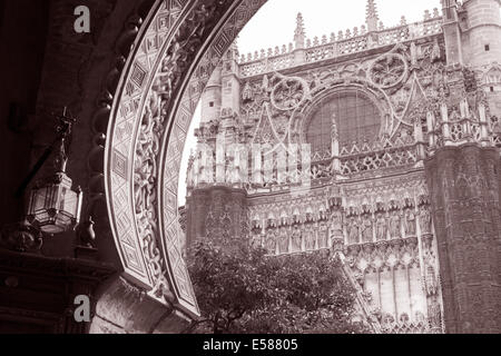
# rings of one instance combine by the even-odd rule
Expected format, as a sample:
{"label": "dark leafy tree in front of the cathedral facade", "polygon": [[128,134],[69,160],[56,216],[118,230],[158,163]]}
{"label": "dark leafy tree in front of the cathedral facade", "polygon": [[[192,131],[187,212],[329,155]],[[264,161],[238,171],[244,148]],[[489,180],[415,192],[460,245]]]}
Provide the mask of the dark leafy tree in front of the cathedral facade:
{"label": "dark leafy tree in front of the cathedral facade", "polygon": [[187,333],[364,333],[355,291],[328,251],[267,257],[238,243],[198,243],[189,270],[203,317]]}

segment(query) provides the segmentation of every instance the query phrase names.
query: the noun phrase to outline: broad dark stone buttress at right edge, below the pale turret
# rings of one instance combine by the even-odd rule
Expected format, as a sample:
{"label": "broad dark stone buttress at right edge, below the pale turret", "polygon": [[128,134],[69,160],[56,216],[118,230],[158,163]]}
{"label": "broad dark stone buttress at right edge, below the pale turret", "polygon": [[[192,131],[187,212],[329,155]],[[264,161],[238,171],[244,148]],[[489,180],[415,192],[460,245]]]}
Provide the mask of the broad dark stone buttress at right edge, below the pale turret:
{"label": "broad dark stone buttress at right edge, below the pale turret", "polygon": [[446,333],[501,333],[499,151],[445,147],[425,162]]}

